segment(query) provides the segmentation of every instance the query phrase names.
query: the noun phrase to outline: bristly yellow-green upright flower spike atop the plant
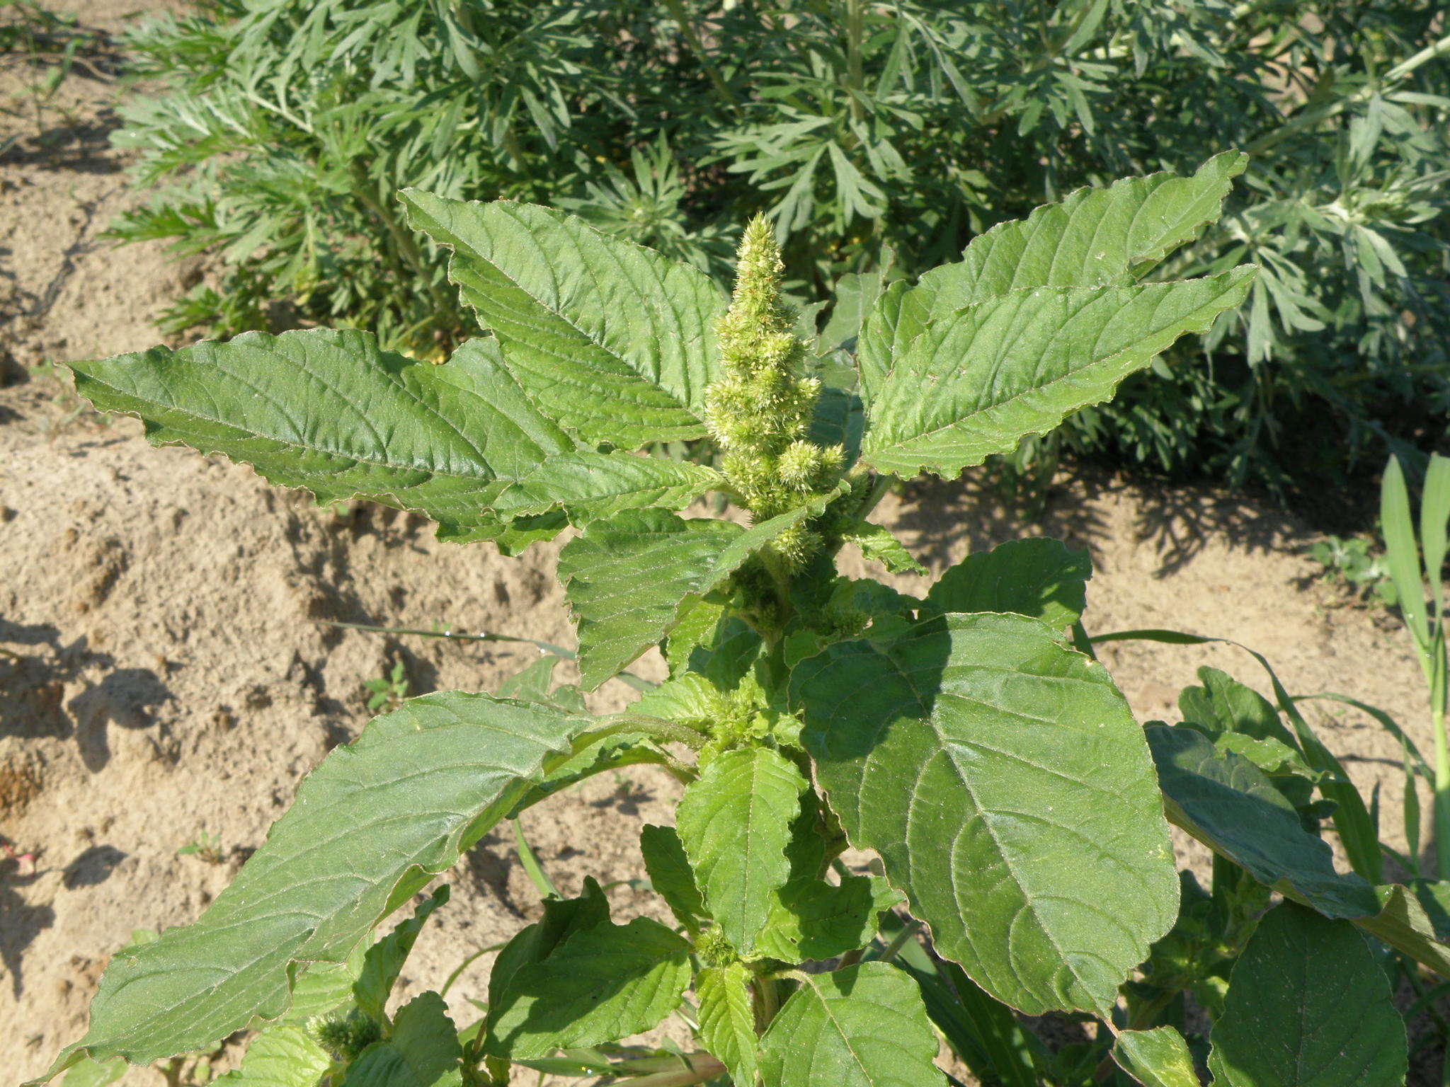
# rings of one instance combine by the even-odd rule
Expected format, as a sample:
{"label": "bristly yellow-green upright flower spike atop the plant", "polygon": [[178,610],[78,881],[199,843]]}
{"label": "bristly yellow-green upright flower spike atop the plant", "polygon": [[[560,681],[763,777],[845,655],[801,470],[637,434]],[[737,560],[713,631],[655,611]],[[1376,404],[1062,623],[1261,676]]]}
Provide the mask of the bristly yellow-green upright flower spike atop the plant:
{"label": "bristly yellow-green upright flower spike atop the plant", "polygon": [[[745,228],[735,296],[715,326],[725,377],[706,393],[705,422],[724,452],[722,470],[757,519],[793,510],[828,490],[845,451],[806,438],[821,383],[805,377],[806,343],[780,299],[784,265],[770,223]],[[803,562],[816,541],[803,526],[782,533],[776,551]]]}

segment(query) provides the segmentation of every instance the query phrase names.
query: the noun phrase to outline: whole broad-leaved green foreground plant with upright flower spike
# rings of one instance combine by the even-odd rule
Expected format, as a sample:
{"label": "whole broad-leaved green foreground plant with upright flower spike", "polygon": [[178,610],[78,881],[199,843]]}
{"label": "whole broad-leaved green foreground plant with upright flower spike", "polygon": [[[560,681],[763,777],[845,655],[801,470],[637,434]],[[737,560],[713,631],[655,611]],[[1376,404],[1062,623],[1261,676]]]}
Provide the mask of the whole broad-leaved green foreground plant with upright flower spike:
{"label": "whole broad-leaved green foreground plant with upright flower spike", "polygon": [[[1357,867],[1372,819],[1280,687],[1276,706],[1206,672],[1185,723],[1144,736],[1085,652],[1086,554],[1009,541],[919,594],[837,572],[848,542],[925,572],[867,520],[890,474],[954,475],[1041,433],[1235,306],[1253,270],[1138,277],[1214,219],[1241,168],[1230,154],[1076,193],[914,287],[858,277],[824,339],[784,303],[764,220],[726,304],[696,270],[579,219],[410,191],[486,328],[447,362],[312,330],[75,364],[81,391],[152,441],[322,500],[422,510],[503,549],[573,526],[558,575],[580,686],[534,662],[497,697],[432,694],[374,720],[194,925],[117,952],[55,1071],[252,1026],[236,1087],[502,1087],[521,1070],[928,1087],[940,1032],[983,1081],[1080,1084],[1116,1058],[1186,1087],[1167,1019],[1192,991],[1232,1086],[1269,1087],[1234,1064],[1244,1023],[1280,1036],[1333,1006],[1321,984],[1369,977],[1362,932],[1450,973],[1450,896],[1333,868],[1324,799],[1360,835]],[[858,368],[815,358],[851,338]],[[644,449],[679,438],[703,439],[702,462]],[[712,491],[738,516],[687,513]],[[581,688],[648,686],[621,670],[655,646],[663,683],[584,712]],[[639,841],[677,923],[616,922],[592,878],[560,896],[521,832],[542,913],[497,949],[481,1019],[450,1016],[468,1009],[444,1000],[458,971],[390,1012],[447,891],[377,939],[387,915],[500,819],[635,765],[683,784],[676,826]],[[1221,858],[1211,891],[1174,871],[1164,813]],[[848,846],[880,870],[853,872]],[[1302,904],[1256,935],[1272,890]],[[1273,990],[1272,964],[1318,930],[1344,942],[1343,970],[1306,958],[1296,988]],[[1012,1009],[1127,1028],[1054,1055]],[[676,1015],[699,1048],[616,1045]],[[1389,1039],[1392,1016],[1376,1004],[1363,1036]]]}

